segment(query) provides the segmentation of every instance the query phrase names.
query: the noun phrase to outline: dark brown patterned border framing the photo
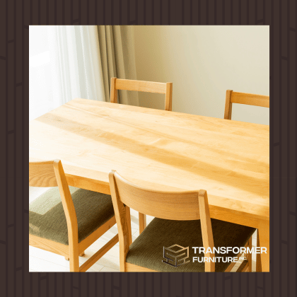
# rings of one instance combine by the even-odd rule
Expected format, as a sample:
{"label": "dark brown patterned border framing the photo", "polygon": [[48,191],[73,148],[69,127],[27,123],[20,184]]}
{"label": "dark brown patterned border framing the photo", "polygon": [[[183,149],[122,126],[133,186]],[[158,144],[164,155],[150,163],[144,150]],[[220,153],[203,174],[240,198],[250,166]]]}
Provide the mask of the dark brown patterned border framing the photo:
{"label": "dark brown patterned border framing the photo", "polygon": [[[0,4],[1,296],[296,296],[296,2]],[[270,25],[271,264],[262,274],[28,273],[29,25]]]}

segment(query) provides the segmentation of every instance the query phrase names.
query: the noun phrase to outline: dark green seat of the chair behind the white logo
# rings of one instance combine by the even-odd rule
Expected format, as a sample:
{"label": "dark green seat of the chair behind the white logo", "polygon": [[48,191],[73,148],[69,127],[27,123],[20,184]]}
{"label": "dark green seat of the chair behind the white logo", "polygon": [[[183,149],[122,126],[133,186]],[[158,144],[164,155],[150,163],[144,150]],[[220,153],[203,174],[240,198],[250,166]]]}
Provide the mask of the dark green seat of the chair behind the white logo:
{"label": "dark green seat of the chair behind the white logo", "polygon": [[[255,232],[255,228],[241,226],[211,219],[214,234],[214,246],[218,247],[244,247]],[[190,262],[173,267],[162,262],[163,247],[172,245],[189,247]],[[192,262],[192,257],[204,257],[204,253],[194,254],[192,247],[203,247],[200,220],[197,221],[171,221],[153,219],[136,240],[130,245],[126,262],[159,272],[204,272],[204,262]],[[236,257],[229,252],[227,255],[216,257]],[[216,262],[216,272],[224,272],[231,262]]]}

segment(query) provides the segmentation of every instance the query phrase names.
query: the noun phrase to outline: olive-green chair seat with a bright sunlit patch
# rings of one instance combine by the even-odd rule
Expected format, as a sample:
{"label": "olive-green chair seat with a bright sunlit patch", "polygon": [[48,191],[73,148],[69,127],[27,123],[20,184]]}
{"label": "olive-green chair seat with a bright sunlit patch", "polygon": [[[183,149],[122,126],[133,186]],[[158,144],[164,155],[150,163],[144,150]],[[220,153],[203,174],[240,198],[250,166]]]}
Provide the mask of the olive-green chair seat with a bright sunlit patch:
{"label": "olive-green chair seat with a bright sunlit patch", "polygon": [[[78,223],[78,243],[115,215],[110,195],[69,187]],[[29,205],[29,233],[69,245],[59,188],[53,187]]]}

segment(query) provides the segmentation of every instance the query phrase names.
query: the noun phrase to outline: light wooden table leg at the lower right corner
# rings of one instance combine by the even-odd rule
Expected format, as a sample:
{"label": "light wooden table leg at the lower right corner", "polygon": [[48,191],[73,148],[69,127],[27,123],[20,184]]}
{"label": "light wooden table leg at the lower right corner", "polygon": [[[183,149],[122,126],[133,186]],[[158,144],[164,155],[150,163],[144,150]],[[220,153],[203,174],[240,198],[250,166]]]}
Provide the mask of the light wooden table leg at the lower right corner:
{"label": "light wooden table leg at the lower right corner", "polygon": [[267,253],[261,254],[262,272],[269,272],[269,221],[260,221],[258,233],[260,247],[267,248]]}

